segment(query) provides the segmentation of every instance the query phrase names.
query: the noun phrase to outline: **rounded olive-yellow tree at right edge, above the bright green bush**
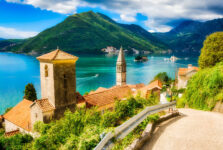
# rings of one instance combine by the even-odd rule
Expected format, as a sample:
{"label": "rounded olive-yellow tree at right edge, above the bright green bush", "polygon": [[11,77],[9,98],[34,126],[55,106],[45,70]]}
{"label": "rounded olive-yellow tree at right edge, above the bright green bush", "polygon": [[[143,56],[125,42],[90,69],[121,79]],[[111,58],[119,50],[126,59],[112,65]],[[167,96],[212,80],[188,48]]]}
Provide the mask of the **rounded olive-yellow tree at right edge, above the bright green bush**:
{"label": "rounded olive-yellow tree at right edge, above the bright green bush", "polygon": [[199,57],[200,68],[212,67],[223,61],[223,32],[216,32],[206,38]]}

